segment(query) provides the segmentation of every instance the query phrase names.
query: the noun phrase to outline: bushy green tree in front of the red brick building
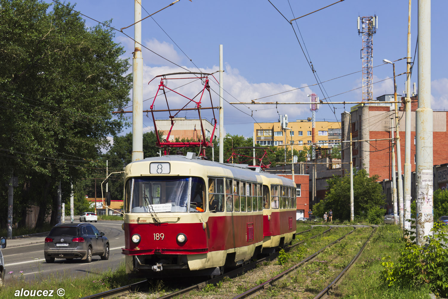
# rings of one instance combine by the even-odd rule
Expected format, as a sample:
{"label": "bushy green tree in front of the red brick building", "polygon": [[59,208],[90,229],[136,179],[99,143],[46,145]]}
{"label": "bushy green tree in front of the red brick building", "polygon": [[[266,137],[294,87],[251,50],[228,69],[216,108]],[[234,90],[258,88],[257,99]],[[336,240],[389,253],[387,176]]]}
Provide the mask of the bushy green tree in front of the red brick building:
{"label": "bushy green tree in front of the red brick building", "polygon": [[[384,205],[381,185],[377,183],[378,175],[369,178],[365,169],[354,170],[353,202],[355,217],[367,217],[370,209]],[[323,212],[333,211],[333,216],[340,220],[350,219],[350,177],[333,176],[327,180],[328,189],[325,198],[314,204],[314,214],[322,217]]]}

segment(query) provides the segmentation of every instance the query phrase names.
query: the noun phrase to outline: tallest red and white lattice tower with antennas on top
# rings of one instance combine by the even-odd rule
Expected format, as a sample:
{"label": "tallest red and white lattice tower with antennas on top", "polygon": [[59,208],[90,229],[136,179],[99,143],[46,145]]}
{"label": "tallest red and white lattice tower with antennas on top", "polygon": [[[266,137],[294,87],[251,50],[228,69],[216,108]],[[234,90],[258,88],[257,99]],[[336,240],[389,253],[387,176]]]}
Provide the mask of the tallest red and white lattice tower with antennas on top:
{"label": "tallest red and white lattice tower with antennas on top", "polygon": [[378,29],[378,17],[358,17],[358,35],[362,35],[362,101],[372,100],[373,35]]}

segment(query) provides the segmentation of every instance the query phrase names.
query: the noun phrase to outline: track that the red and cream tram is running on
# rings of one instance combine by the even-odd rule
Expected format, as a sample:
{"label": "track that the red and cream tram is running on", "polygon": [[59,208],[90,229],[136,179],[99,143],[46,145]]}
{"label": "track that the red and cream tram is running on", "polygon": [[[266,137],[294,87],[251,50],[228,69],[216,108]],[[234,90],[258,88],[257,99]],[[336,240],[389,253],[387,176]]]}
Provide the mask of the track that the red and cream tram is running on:
{"label": "track that the red and cream tram is running on", "polygon": [[[292,244],[292,245],[290,245],[288,247],[285,247],[284,250],[285,251],[289,251],[292,248],[294,248],[294,247],[296,247],[296,246],[306,242],[307,240],[319,237],[319,236],[329,232],[330,230],[332,230],[332,227],[330,225],[326,225],[326,226],[328,226],[329,228],[327,230],[324,230],[322,233],[316,234],[314,236],[311,236],[310,238],[306,238],[305,240],[299,241],[299,242],[294,243],[294,244]],[[296,233],[296,235],[304,234],[306,232],[310,232],[312,229],[313,228],[311,228],[309,230],[302,230],[301,232]],[[256,268],[258,264],[261,264],[261,263],[263,263],[265,261],[276,259],[276,257],[278,255],[279,255],[279,251],[277,251],[276,253],[274,253],[274,254],[272,254],[270,256],[267,256],[267,257],[261,258],[259,260],[256,260],[256,261],[254,261],[252,263],[243,265],[242,267],[239,267],[237,269],[233,269],[233,270],[231,270],[229,272],[226,272],[226,273],[224,273],[222,275],[219,275],[217,277],[213,277],[211,279],[208,279],[205,282],[200,282],[198,284],[194,284],[192,286],[189,286],[189,287],[184,288],[182,290],[175,291],[175,292],[170,293],[168,295],[164,295],[164,296],[159,297],[157,299],[169,299],[169,298],[174,298],[174,297],[180,296],[180,295],[188,295],[188,293],[190,293],[191,291],[193,291],[193,290],[201,290],[204,286],[207,286],[209,284],[215,285],[218,282],[220,282],[221,280],[223,280],[224,277],[232,278],[232,277],[236,277],[236,276],[238,276],[238,275],[240,275],[242,273],[246,273],[247,271]],[[145,279],[145,280],[142,280],[140,282],[135,282],[135,283],[127,285],[127,286],[121,286],[121,287],[118,287],[118,288],[115,288],[115,289],[112,289],[112,290],[107,290],[107,291],[104,291],[104,292],[101,292],[101,293],[98,293],[98,294],[93,294],[93,295],[89,295],[89,296],[86,296],[86,297],[82,297],[81,299],[108,299],[108,298],[116,298],[118,296],[125,295],[125,294],[128,294],[130,292],[134,292],[136,290],[145,289],[147,287],[147,284],[148,284],[148,281]]]}

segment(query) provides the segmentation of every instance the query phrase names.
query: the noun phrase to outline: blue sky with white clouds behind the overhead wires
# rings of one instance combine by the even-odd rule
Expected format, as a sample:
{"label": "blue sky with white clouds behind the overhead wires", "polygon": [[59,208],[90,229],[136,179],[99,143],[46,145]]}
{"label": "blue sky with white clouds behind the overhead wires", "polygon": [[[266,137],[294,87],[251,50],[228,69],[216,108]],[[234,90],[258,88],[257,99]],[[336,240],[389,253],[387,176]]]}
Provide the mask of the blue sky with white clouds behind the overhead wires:
{"label": "blue sky with white clouds behind the overhead wires", "polygon": [[[51,2],[47,0],[47,2]],[[271,0],[281,13],[288,19],[304,15],[335,0],[298,1],[298,0]],[[142,0],[142,6],[149,13],[153,13],[169,1]],[[289,6],[289,3],[291,7]],[[112,26],[121,28],[134,22],[133,0],[79,0],[75,9],[99,21],[112,20]],[[448,108],[448,74],[446,73],[447,39],[444,38],[448,1],[433,0],[431,4],[431,81],[432,81],[432,108]],[[359,1],[345,0],[327,9],[303,17],[293,22],[297,34],[300,30],[307,52],[321,81],[339,77],[345,74],[361,71],[362,60],[360,49],[362,38],[358,36],[356,20],[358,15],[378,15],[378,31],[373,38],[373,65],[381,65],[383,59],[390,61],[406,56],[407,35],[407,0],[375,0]],[[142,16],[147,13],[142,10]],[[297,87],[315,84],[316,81],[310,70],[305,56],[297,42],[291,25],[276,11],[267,0],[181,0],[177,4],[155,14],[155,21],[151,19],[142,21],[142,43],[160,55],[184,66],[191,71],[198,69],[184,55],[183,52],[201,70],[213,72],[219,66],[219,44],[224,45],[224,98],[235,102],[234,98],[248,102],[255,98],[272,95]],[[87,26],[96,23],[87,19]],[[297,30],[297,26],[298,29]],[[412,56],[414,56],[417,41],[417,0],[412,1]],[[134,35],[134,29],[124,30],[128,35]],[[302,38],[299,35],[299,39]],[[121,42],[126,49],[123,58],[132,58],[134,42],[125,35],[117,32],[115,40]],[[146,85],[155,75],[177,71],[185,71],[164,61],[159,57],[143,50],[144,61],[144,100],[155,95],[157,81]],[[132,63],[132,61],[130,61]],[[396,63],[396,73],[406,71],[405,60]],[[373,81],[380,81],[392,77],[392,65],[382,65],[373,71]],[[219,75],[216,74],[216,78]],[[169,87],[177,87],[184,82],[169,82]],[[405,76],[397,78],[398,93],[405,89]],[[417,82],[417,59],[413,72],[412,82]],[[154,84],[153,84],[154,83]],[[384,93],[393,93],[392,79],[374,84],[374,98]],[[332,101],[358,101],[362,100],[362,90],[351,91],[343,95],[332,97],[344,91],[362,86],[361,72],[330,82],[323,83]],[[217,85],[211,87],[219,92]],[[194,83],[179,89],[185,94],[195,94],[201,88]],[[319,87],[306,87],[282,95],[266,98],[266,101],[308,101],[306,95],[315,92],[319,98],[324,98]],[[233,98],[233,97],[234,98]],[[212,94],[214,104],[219,98]],[[161,98],[159,100],[162,100]],[[170,98],[173,106],[182,103],[178,97]],[[149,109],[150,100],[144,102],[144,109]],[[158,104],[162,108],[163,104]],[[131,103],[132,104],[132,103]],[[336,117],[333,106],[322,105],[316,114],[318,120],[334,121],[340,119],[343,112],[342,105],[336,105]],[[254,119],[258,122],[276,121],[278,113],[288,113],[289,120],[310,117],[307,105],[237,105],[245,113],[241,113],[229,104],[224,104],[224,128],[226,133],[252,136]],[[346,106],[346,109],[348,105]],[[130,110],[129,108],[128,110]],[[263,110],[262,110],[263,109]],[[252,111],[258,110],[258,111]],[[151,114],[150,114],[151,115]],[[210,110],[203,112],[208,119]],[[252,117],[250,117],[252,115]],[[188,112],[180,116],[195,117],[197,113]],[[163,118],[164,115],[157,117]],[[218,118],[216,113],[216,118]],[[153,128],[150,118],[143,118],[145,130]],[[129,131],[128,128],[125,132]]]}

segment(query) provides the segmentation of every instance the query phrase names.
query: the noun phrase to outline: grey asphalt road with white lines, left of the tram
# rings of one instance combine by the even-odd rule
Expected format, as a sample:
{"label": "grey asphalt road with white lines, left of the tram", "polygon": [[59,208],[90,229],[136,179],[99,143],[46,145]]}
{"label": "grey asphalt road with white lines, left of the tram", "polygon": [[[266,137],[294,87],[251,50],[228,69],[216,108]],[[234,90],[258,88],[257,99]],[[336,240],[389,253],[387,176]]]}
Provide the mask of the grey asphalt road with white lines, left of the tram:
{"label": "grey asphalt road with white lines, left of the tram", "polygon": [[[75,223],[79,223],[76,222]],[[124,255],[121,254],[121,247],[124,247],[125,232],[121,229],[122,222],[119,221],[99,221],[92,222],[96,228],[105,234],[109,239],[110,256],[109,260],[101,260],[99,256],[93,256],[91,263],[85,263],[81,259],[65,260],[56,259],[53,264],[47,264],[43,256],[44,244],[26,245],[20,247],[6,247],[2,249],[4,256],[6,276],[5,281],[14,277],[21,277],[26,281],[42,279],[48,275],[61,277],[77,277],[87,273],[100,274],[108,269],[116,269],[118,264],[124,262]],[[13,274],[9,274],[13,271]]]}

